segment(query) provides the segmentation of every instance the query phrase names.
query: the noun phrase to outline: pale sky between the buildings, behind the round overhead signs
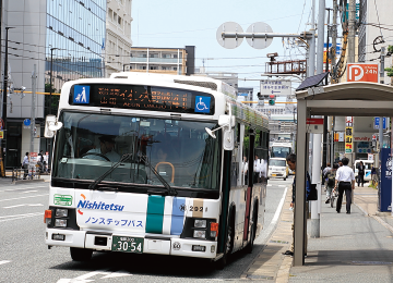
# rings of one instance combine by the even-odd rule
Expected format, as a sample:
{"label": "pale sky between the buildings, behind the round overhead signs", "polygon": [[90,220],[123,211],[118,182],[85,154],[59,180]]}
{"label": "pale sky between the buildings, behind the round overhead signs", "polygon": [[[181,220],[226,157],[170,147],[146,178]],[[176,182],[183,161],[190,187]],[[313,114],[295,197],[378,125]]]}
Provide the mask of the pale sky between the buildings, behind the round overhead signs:
{"label": "pale sky between the buildings, behind the round overhead signs", "polygon": [[[238,73],[239,87],[254,87],[265,72],[267,53],[278,61],[305,59],[305,49],[287,38],[274,38],[265,49],[253,49],[246,39],[236,49],[225,49],[216,39],[217,28],[236,22],[246,32],[257,22],[269,24],[273,33],[309,30],[312,0],[133,0],[131,39],[133,47],[183,48],[195,46],[195,67],[207,73]],[[318,0],[315,1],[318,4]],[[327,1],[326,1],[327,3]],[[329,4],[329,3],[327,3]],[[318,12],[318,9],[317,9]],[[317,16],[315,16],[317,19]]]}

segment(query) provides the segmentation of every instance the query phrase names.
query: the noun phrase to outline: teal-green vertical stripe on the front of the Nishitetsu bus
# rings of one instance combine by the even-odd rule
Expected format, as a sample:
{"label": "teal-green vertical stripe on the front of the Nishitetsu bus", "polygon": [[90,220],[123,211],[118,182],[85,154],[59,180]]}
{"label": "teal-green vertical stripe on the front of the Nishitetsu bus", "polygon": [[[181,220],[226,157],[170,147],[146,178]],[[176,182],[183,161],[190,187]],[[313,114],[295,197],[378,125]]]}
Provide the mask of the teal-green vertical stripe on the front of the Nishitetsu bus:
{"label": "teal-green vertical stripe on the front of the Nishitetsu bus", "polygon": [[146,233],[163,234],[165,197],[148,196]]}

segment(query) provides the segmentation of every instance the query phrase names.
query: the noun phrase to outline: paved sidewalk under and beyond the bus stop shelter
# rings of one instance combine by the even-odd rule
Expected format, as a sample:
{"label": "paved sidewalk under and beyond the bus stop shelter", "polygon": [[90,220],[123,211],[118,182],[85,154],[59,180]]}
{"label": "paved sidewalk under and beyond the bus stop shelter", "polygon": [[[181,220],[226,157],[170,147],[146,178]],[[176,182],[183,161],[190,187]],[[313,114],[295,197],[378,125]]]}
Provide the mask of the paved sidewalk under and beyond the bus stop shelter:
{"label": "paved sidewalk under and beyond the bus stop shelter", "polygon": [[[277,229],[243,279],[260,282],[393,281],[393,218],[390,213],[377,216],[377,189],[356,187],[350,214],[337,213],[335,205],[334,208],[325,205],[322,193],[320,237],[308,238],[305,266],[293,267],[293,258],[282,255],[293,241],[289,189]],[[309,225],[310,221],[308,231]]]}

